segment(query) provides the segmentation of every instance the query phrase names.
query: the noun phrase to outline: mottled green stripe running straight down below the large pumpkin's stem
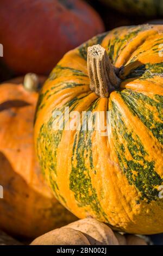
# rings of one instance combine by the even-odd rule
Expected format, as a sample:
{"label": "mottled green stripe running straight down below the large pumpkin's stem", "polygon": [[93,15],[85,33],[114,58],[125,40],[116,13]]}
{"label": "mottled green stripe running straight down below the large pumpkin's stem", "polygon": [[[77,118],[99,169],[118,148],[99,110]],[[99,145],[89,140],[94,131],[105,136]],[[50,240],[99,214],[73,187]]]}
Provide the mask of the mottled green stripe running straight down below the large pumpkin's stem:
{"label": "mottled green stripe running straight down below the large pumpkin's stem", "polygon": [[[96,108],[98,100],[96,100],[87,111],[93,111]],[[85,117],[86,118],[86,117]],[[86,119],[84,120],[86,122]],[[96,116],[92,115],[93,127],[95,126]],[[73,144],[72,153],[72,171],[70,174],[70,190],[74,192],[74,197],[79,207],[90,206],[96,216],[106,218],[106,214],[102,209],[101,203],[97,197],[96,189],[92,186],[90,171],[96,175],[95,167],[92,159],[92,130],[81,130],[76,133]],[[87,164],[89,163],[89,168]]]}

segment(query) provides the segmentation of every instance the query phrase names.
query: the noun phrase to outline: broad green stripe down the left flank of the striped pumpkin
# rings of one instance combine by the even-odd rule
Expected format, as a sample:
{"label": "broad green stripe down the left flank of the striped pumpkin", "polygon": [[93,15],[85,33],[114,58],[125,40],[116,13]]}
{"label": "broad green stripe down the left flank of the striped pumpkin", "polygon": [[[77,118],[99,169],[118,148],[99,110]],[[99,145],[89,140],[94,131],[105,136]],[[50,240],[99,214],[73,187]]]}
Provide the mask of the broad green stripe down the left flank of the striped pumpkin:
{"label": "broad green stripe down the left flank of the striped pumpkin", "polygon": [[[65,107],[70,108],[70,112],[74,110],[74,108],[78,105],[79,99],[76,97],[71,101],[65,103],[60,108],[54,108],[53,111],[64,112]],[[62,117],[58,117],[58,120]],[[46,124],[41,126],[39,136],[37,138],[37,155],[39,156],[39,163],[41,166],[41,170],[43,175],[45,175],[45,170],[48,169],[49,179],[51,182],[51,186],[55,197],[59,200],[62,200],[63,203],[66,203],[65,199],[59,194],[59,187],[57,182],[52,179],[52,173],[57,175],[57,148],[62,138],[62,132],[64,130],[53,130],[53,121],[55,119],[51,117]],[[64,115],[63,115],[64,120]],[[65,120],[64,120],[65,121]]]}

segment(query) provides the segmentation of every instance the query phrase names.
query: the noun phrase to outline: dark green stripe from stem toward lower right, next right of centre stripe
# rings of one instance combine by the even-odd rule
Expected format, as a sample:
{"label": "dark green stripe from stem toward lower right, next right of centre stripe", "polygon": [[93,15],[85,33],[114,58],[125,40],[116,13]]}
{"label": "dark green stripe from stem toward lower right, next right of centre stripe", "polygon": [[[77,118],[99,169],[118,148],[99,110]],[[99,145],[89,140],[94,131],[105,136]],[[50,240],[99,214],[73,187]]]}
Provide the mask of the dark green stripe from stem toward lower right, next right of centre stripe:
{"label": "dark green stripe from stem toward lower right, next right of centre stripe", "polygon": [[[143,143],[134,130],[125,124],[115,102],[112,102],[110,112],[118,162],[129,184],[134,185],[141,193],[140,200],[149,203],[159,199],[159,191],[155,186],[161,185],[163,179],[156,173],[155,162],[147,160],[148,153]],[[130,157],[127,159],[126,151],[129,151],[132,160]]]}

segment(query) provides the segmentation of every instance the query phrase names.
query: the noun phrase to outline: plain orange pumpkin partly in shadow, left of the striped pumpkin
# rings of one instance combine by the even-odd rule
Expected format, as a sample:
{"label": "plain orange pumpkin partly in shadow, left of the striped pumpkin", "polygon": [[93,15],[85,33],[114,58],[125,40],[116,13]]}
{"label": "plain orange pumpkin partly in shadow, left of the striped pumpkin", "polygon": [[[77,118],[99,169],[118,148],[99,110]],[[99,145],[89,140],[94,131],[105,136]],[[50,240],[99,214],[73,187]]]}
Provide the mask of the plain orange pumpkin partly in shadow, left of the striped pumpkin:
{"label": "plain orange pumpkin partly in shadow, left of the striped pumpkin", "polygon": [[8,234],[36,237],[76,218],[53,197],[35,159],[38,94],[9,82],[0,85],[0,94],[0,228]]}

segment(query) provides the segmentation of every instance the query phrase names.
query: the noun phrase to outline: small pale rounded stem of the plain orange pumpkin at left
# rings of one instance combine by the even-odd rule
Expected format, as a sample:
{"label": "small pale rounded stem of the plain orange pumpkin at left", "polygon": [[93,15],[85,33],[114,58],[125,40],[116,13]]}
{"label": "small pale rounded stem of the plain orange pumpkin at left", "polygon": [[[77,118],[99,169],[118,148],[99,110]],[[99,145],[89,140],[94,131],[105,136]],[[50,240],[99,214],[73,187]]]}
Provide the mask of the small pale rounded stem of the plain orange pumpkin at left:
{"label": "small pale rounded stem of the plain orange pumpkin at left", "polygon": [[28,73],[24,76],[23,86],[29,92],[36,92],[39,88],[39,77],[34,73]]}

